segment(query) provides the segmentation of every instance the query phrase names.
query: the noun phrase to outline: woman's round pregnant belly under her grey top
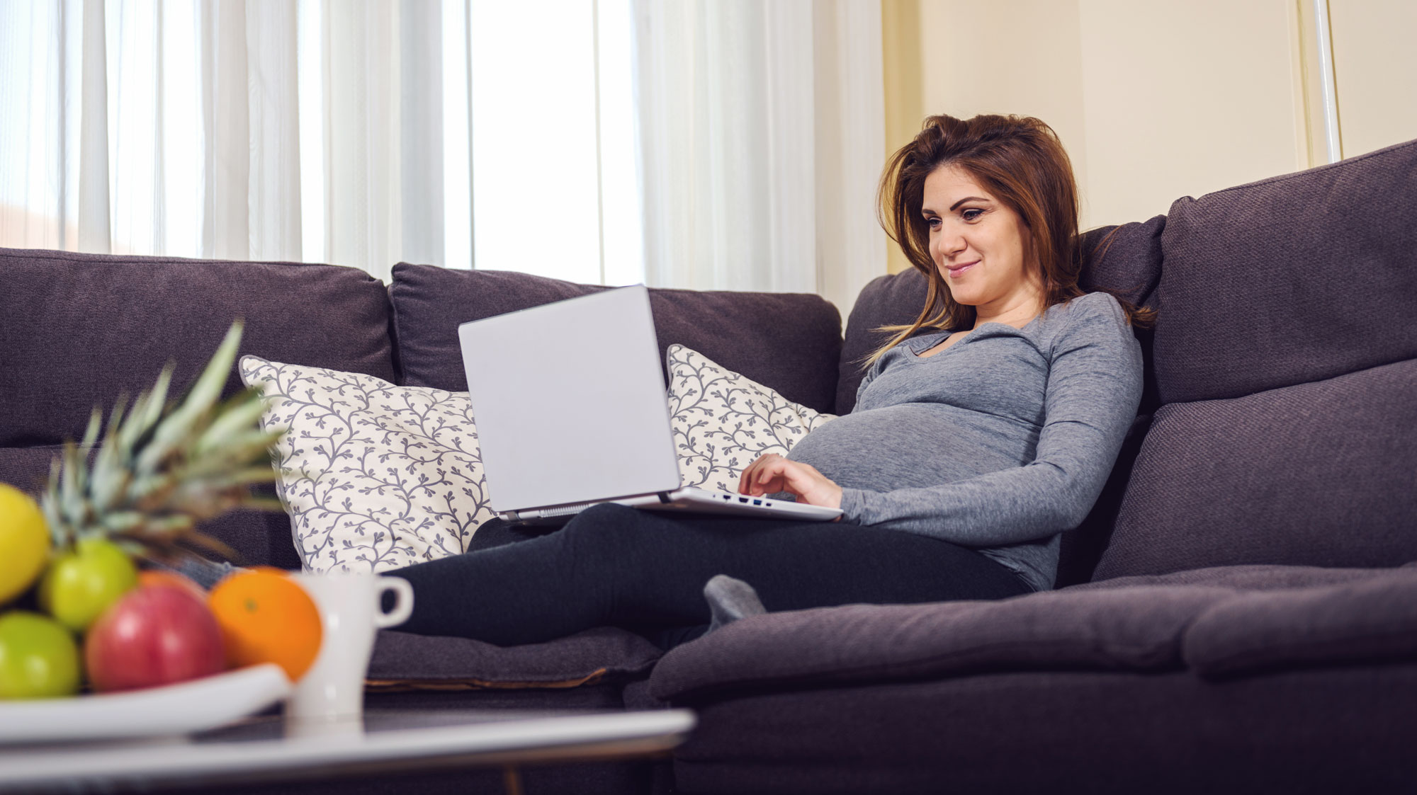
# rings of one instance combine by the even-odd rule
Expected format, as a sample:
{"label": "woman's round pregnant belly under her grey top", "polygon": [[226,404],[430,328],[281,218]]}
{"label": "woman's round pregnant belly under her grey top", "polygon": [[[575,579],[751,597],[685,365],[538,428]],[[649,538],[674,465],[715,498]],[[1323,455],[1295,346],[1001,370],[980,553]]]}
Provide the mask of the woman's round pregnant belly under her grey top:
{"label": "woman's round pregnant belly under her grey top", "polygon": [[788,453],[837,485],[931,487],[1033,461],[1039,429],[945,403],[901,403],[837,417]]}

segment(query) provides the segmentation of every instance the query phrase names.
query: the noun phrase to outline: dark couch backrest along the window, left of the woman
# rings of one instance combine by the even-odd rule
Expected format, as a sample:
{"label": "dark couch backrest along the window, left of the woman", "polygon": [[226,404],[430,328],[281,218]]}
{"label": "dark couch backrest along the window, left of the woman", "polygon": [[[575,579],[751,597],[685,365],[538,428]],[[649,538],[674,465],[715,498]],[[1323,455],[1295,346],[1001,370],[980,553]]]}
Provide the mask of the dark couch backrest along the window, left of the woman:
{"label": "dark couch backrest along the window, left of the woman", "polygon": [[[235,317],[245,318],[242,354],[462,390],[458,323],[599,289],[398,265],[385,290],[351,267],[20,249],[0,249],[0,482],[26,489],[43,484],[94,405],[149,388],[169,359],[179,395]],[[832,409],[842,325],[830,303],[689,290],[652,290],[650,300],[662,349],[689,345],[792,400]],[[575,341],[567,347],[574,352]],[[225,392],[237,389],[232,373]],[[300,566],[283,513],[237,511],[203,529],[245,563]]]}

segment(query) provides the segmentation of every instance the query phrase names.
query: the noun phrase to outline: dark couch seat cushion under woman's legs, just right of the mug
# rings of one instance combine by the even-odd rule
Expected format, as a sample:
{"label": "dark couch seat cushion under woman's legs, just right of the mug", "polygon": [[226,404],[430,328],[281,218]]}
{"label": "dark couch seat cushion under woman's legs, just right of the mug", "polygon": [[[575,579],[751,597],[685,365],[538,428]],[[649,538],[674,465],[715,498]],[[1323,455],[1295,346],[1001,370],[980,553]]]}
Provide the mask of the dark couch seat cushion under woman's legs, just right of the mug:
{"label": "dark couch seat cushion under woman's legs, just right of the mug", "polygon": [[381,629],[367,679],[380,689],[575,687],[638,678],[660,654],[612,627],[521,646]]}

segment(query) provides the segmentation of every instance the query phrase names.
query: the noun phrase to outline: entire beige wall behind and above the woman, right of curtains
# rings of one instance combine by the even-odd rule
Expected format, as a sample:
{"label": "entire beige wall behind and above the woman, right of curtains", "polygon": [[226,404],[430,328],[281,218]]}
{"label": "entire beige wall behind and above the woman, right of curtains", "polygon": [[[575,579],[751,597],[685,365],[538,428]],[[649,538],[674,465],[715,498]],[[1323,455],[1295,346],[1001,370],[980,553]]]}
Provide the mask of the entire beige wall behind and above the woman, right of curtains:
{"label": "entire beige wall behind and above the woman, right of curtains", "polygon": [[[1417,137],[1417,54],[1406,41],[1417,1],[1329,1],[1345,156]],[[1311,151],[1322,151],[1311,146],[1315,108],[1305,105],[1316,76],[1305,75],[1306,7],[886,0],[887,147],[908,139],[893,108],[904,116],[917,96],[920,116],[1037,116],[1073,158],[1084,229],[1306,168],[1318,163]],[[893,86],[910,61],[920,64],[918,86]],[[893,252],[891,270],[903,265]]]}

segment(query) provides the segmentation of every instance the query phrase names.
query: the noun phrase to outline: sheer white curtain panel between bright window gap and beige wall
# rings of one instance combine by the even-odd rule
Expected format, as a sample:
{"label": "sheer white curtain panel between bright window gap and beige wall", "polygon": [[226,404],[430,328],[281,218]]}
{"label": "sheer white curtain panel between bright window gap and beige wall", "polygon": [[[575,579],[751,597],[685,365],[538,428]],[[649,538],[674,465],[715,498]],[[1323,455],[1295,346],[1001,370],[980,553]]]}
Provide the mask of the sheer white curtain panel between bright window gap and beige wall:
{"label": "sheer white curtain panel between bright window gap and beige wall", "polygon": [[886,273],[880,0],[635,0],[650,283],[822,293]]}

